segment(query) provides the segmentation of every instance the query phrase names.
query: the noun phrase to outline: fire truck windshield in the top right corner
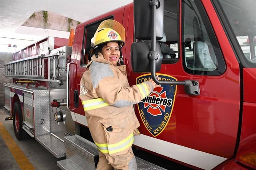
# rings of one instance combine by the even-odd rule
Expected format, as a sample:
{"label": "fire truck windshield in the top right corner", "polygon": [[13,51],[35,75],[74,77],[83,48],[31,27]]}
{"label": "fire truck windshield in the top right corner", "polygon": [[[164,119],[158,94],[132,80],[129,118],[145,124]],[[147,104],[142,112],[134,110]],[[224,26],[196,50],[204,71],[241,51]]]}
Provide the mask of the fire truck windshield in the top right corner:
{"label": "fire truck windshield in the top right corner", "polygon": [[256,1],[219,0],[248,66],[256,67]]}

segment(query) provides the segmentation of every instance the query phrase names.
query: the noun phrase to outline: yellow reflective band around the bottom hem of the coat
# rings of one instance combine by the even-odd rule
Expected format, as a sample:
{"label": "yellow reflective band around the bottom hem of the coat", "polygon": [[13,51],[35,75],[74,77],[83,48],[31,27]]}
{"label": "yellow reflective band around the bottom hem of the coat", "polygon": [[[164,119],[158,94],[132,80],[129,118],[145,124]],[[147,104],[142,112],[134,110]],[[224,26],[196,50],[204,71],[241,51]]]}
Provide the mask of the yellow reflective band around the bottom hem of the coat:
{"label": "yellow reflective band around the bottom hem of the coat", "polygon": [[109,153],[109,154],[114,154],[117,152],[121,152],[126,150],[127,148],[130,148],[133,143],[133,133],[131,133],[127,138],[121,140],[118,143],[115,144],[108,144],[108,143],[97,143],[94,142],[98,149],[102,153]]}

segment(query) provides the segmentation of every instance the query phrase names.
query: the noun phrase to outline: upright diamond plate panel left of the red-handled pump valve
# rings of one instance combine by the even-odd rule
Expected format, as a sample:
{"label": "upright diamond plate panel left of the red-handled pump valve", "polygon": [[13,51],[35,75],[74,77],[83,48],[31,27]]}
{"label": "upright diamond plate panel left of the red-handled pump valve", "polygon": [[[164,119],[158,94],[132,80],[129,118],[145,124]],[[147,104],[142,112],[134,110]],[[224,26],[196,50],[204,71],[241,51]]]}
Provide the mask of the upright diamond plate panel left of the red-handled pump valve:
{"label": "upright diamond plate panel left of the red-handled pump valve", "polygon": [[[49,90],[34,90],[35,137],[51,132]],[[43,120],[43,124],[41,124]]]}

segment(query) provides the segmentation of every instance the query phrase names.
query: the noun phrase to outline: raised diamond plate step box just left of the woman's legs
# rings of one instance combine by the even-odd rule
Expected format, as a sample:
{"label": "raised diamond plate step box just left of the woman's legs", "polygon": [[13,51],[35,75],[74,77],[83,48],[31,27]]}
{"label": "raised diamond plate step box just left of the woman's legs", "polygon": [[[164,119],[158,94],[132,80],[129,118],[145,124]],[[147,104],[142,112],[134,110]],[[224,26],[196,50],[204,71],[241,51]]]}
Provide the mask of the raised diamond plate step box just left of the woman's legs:
{"label": "raised diamond plate step box just left of the woman's legs", "polygon": [[64,137],[67,159],[79,164],[82,169],[95,170],[99,151],[96,145],[79,135]]}

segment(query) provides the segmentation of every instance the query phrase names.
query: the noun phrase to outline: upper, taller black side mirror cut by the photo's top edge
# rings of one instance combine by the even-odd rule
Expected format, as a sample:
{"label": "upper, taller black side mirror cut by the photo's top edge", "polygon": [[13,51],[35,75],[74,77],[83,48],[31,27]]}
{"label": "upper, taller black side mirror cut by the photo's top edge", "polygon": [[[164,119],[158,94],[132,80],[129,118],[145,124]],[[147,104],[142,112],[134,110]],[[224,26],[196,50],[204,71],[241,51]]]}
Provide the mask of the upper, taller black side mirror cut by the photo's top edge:
{"label": "upper, taller black side mirror cut by the photo's top edge", "polygon": [[[163,37],[163,12],[164,0],[156,0],[156,39]],[[151,5],[150,0],[134,0],[134,26],[137,39],[150,40],[152,35]]]}

